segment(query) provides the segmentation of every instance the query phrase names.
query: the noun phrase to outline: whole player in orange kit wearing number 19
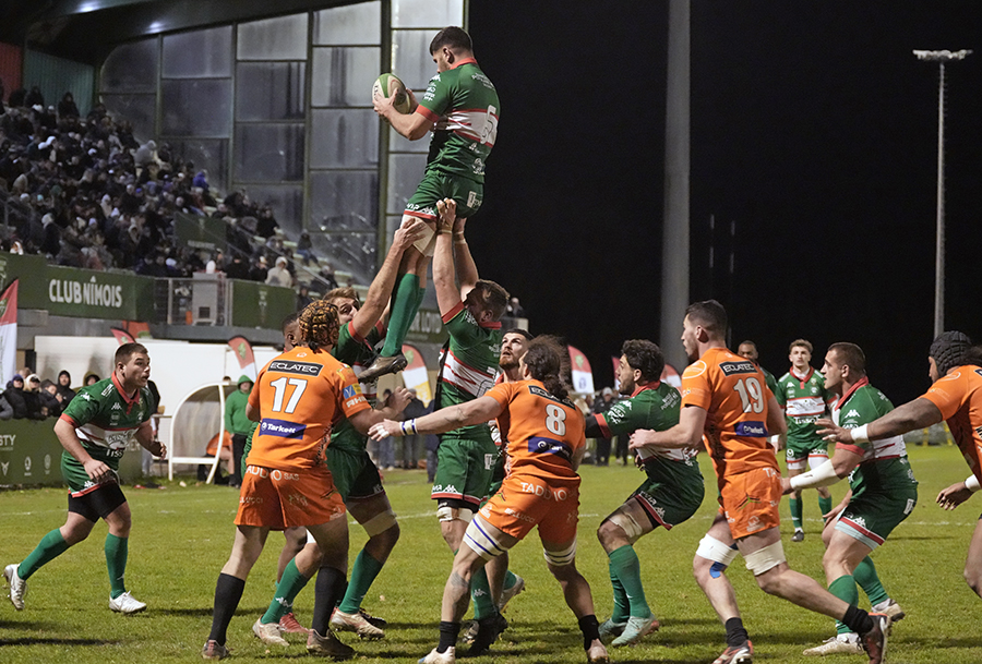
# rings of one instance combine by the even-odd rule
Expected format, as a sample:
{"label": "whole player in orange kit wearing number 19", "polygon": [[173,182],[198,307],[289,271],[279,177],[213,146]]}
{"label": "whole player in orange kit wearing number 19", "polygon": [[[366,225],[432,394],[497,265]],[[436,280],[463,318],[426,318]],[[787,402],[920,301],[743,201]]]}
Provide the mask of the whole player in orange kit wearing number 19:
{"label": "whole player in orange kit wearing number 19", "polygon": [[720,512],[699,542],[693,571],[727,627],[727,649],[714,664],[753,662],[753,644],[740,619],[733,587],[722,574],[738,551],[764,592],[842,620],[860,635],[870,664],[881,664],[889,618],[847,604],[792,570],[785,559],[778,516],[781,476],[767,442],[770,434],[785,431],[783,413],[757,366],[727,349],[726,335],[727,312],[719,302],[688,305],[682,345],[693,364],[682,374],[679,424],[631,436],[633,449],[697,447],[705,436]]}

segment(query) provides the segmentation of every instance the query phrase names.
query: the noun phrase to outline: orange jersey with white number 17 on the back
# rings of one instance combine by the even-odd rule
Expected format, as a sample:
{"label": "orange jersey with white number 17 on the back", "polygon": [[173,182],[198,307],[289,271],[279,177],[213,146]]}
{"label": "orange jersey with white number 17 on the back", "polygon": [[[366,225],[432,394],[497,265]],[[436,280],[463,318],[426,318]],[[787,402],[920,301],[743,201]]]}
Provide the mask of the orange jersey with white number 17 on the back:
{"label": "orange jersey with white number 17 on the back", "polygon": [[371,408],[355,372],[326,350],[298,346],[259,374],[249,403],[262,420],[246,462],[278,470],[313,468],[324,460],[331,428]]}

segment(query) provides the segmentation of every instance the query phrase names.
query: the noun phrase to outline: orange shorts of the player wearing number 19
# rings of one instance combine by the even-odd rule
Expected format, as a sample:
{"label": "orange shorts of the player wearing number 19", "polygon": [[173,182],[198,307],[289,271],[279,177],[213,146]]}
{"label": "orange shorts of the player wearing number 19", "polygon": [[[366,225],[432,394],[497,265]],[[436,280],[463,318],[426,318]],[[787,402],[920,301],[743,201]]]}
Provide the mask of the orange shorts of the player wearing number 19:
{"label": "orange shorts of the player wearing number 19", "polygon": [[734,540],[781,524],[781,475],[774,468],[756,468],[723,475],[719,483],[720,511]]}

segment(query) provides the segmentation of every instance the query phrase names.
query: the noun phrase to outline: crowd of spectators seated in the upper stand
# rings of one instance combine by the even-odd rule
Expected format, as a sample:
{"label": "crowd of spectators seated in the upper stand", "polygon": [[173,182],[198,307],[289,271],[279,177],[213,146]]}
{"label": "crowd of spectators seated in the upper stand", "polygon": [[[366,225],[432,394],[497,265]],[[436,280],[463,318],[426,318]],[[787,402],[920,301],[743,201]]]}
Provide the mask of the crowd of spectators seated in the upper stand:
{"label": "crowd of spectators seated in the upper stand", "polygon": [[[5,208],[5,209],[3,209]],[[0,104],[0,246],[41,254],[56,265],[132,269],[153,277],[223,271],[230,278],[297,283],[294,253],[272,207],[241,191],[225,197],[167,143],[141,144],[101,104],[82,117],[71,93],[45,106],[40,90],[17,89]],[[175,217],[226,221],[228,252],[181,245]],[[316,265],[310,237],[298,261]],[[320,269],[320,268],[318,268]],[[319,290],[336,286],[323,268]]]}

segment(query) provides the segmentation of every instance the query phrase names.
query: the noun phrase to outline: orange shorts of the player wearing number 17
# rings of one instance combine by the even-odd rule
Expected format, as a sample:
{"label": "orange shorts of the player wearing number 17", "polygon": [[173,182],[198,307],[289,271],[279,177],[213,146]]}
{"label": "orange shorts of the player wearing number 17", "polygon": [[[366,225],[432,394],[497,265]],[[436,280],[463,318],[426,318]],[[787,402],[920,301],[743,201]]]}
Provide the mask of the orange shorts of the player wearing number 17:
{"label": "orange shorts of the player wearing number 17", "polygon": [[345,503],[324,464],[307,470],[250,466],[242,478],[236,526],[283,530],[344,518]]}

